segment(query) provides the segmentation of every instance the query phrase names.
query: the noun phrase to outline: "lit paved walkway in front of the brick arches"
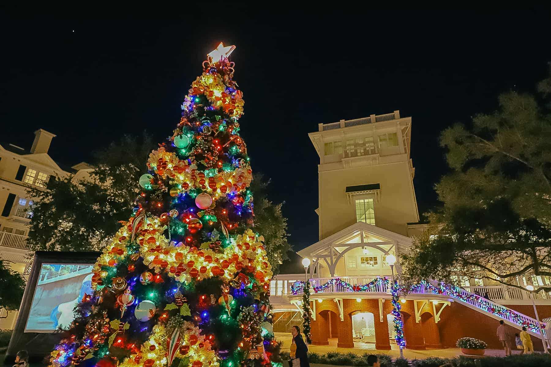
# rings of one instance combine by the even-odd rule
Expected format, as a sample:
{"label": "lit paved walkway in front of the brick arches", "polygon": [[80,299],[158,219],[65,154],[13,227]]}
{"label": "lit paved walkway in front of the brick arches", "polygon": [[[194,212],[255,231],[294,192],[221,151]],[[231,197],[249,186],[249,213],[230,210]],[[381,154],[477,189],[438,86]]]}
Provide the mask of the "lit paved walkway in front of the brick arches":
{"label": "lit paved walkway in front of the brick arches", "polygon": [[[291,345],[291,333],[275,333],[276,339],[283,342],[282,350],[288,351],[289,346]],[[337,339],[329,339],[328,346],[309,346],[308,349],[310,352],[316,352],[320,354],[325,354],[327,352],[341,352],[341,353],[373,353],[373,354],[388,354],[392,357],[399,357],[400,351],[396,344],[391,344],[391,350],[377,350],[375,349],[375,343],[361,343],[355,342],[354,348],[337,348]],[[423,359],[428,357],[442,357],[442,358],[452,358],[461,355],[461,350],[459,348],[446,348],[446,349],[426,349],[426,350],[414,350],[414,349],[404,349],[404,357],[408,359]],[[513,350],[513,353],[520,353],[520,351]],[[486,349],[485,355],[496,355],[503,357],[505,352],[503,349]]]}

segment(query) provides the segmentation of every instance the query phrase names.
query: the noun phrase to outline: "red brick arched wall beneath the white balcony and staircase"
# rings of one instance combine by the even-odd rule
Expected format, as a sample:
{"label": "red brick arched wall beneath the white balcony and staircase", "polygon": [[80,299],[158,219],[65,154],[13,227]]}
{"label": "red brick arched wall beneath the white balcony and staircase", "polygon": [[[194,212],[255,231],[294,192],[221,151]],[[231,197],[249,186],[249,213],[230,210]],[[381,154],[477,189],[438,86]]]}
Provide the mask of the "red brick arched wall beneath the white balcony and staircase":
{"label": "red brick arched wall beneath the white balcony and staircase", "polygon": [[[420,305],[420,304],[419,304]],[[531,316],[533,308],[530,305],[514,305],[515,309],[523,314]],[[440,310],[441,304],[436,306]],[[512,306],[510,306],[512,308]],[[532,313],[530,313],[532,309]],[[357,312],[370,312],[375,320],[375,344],[377,349],[390,349],[388,337],[388,324],[386,315],[392,311],[392,303],[386,300],[383,303],[382,319],[380,321],[379,300],[363,299],[356,302],[355,299],[343,300],[344,321],[339,318],[337,303],[331,300],[323,300],[316,303],[316,321],[312,321],[312,341],[314,344],[326,345],[329,337],[338,338],[338,347],[353,348],[352,315]],[[425,348],[455,348],[457,339],[473,337],[488,343],[488,348],[501,349],[501,342],[496,336],[496,328],[499,321],[476,310],[459,303],[452,302],[440,314],[440,321],[434,322],[434,309],[432,303],[427,303],[420,310],[421,320],[415,322],[415,309],[412,300],[402,304],[402,317],[404,321],[404,336],[409,349]],[[538,314],[543,319],[551,317],[551,306],[538,306]],[[331,315],[331,316],[329,316]],[[330,319],[330,321],[329,321]],[[331,323],[331,335],[329,335],[329,322]],[[507,326],[511,335],[511,344],[514,344],[515,333],[520,332],[516,328]],[[536,337],[532,337],[534,349],[543,350],[542,343]]]}

